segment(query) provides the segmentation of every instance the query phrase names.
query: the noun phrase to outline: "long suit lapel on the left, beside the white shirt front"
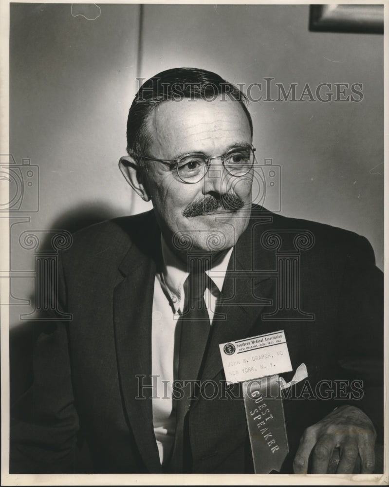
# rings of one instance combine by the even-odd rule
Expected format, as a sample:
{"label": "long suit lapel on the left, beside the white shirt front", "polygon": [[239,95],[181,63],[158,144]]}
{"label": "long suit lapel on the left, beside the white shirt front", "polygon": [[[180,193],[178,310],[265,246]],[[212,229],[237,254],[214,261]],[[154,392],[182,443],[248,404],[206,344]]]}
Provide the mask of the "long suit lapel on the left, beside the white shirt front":
{"label": "long suit lapel on the left, beside the white shirt front", "polygon": [[[154,237],[151,242],[160,242],[147,233],[146,239]],[[139,387],[142,380],[143,384],[149,384],[151,375],[151,313],[156,272],[146,239],[143,247],[133,245],[122,261],[120,269],[124,279],[114,290],[113,318],[124,407],[148,471],[158,473],[162,468],[153,430],[150,391],[145,388],[142,393]],[[158,251],[156,253],[158,255]],[[137,375],[145,377],[138,379]],[[142,395],[146,399],[136,399]]]}

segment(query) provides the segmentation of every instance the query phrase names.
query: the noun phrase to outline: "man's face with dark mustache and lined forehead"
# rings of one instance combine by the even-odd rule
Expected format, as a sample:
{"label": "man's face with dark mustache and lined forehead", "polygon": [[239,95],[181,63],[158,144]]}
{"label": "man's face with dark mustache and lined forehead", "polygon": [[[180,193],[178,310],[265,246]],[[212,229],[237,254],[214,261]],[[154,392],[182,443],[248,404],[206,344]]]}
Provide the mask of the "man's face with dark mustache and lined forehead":
{"label": "man's face with dark mustache and lined forehead", "polygon": [[[177,159],[193,152],[215,157],[233,146],[252,143],[246,114],[240,103],[229,99],[163,102],[149,115],[148,130],[151,142],[145,155],[157,159]],[[253,169],[245,176],[232,176],[221,159],[215,159],[201,181],[187,184],[175,167],[156,161],[146,164],[148,194],[173,251],[177,252],[173,244],[177,232],[192,240],[192,249],[218,251],[236,244],[248,224]]]}

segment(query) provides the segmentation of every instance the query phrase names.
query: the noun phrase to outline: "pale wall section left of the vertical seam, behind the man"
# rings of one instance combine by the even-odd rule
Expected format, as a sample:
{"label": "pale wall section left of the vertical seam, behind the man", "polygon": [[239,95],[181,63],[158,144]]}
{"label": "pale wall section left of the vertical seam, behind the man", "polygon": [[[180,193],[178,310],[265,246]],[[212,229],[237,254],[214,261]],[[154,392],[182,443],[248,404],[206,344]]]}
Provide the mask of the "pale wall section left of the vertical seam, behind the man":
{"label": "pale wall section left of the vertical seam, behind the man", "polygon": [[[131,212],[117,164],[136,89],[140,6],[102,4],[95,20],[72,15],[70,3],[10,7],[10,150],[18,164],[29,158],[39,168],[39,211],[17,212],[30,221],[11,235],[12,269],[25,271],[34,256],[20,247],[21,232]],[[29,299],[34,280],[21,272],[11,286]],[[14,306],[11,324],[29,309]]]}

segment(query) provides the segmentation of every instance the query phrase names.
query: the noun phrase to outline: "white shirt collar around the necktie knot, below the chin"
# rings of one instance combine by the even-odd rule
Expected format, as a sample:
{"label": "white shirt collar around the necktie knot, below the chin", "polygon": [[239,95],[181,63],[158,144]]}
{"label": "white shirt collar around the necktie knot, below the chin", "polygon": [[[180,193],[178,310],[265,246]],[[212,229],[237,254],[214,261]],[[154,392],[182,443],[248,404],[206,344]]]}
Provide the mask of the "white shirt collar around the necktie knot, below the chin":
{"label": "white shirt collar around the necktie knot, below the chin", "polygon": [[[163,266],[159,279],[164,291],[167,293],[169,300],[175,311],[183,310],[184,308],[184,282],[189,273],[184,262],[182,262],[174,252],[168,247],[164,237],[161,235],[162,259]],[[215,284],[218,292],[222,292],[222,287],[227,272],[228,262],[230,261],[233,247],[226,252],[222,252],[220,256],[212,262],[212,267],[205,271]]]}

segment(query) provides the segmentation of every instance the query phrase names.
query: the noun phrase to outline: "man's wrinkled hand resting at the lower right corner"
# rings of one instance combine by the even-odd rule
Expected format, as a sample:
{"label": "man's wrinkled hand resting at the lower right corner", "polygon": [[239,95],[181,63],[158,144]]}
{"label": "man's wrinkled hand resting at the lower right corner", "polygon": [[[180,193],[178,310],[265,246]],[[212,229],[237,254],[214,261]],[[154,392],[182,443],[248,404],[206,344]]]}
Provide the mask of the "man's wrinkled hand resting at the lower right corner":
{"label": "man's wrinkled hand resting at the lower right corner", "polygon": [[[300,440],[293,469],[295,473],[353,473],[358,453],[360,473],[371,473],[375,464],[376,432],[368,416],[354,406],[341,406],[321,421],[307,428]],[[339,448],[339,464],[328,471],[333,450]],[[330,466],[330,470],[333,470]]]}

